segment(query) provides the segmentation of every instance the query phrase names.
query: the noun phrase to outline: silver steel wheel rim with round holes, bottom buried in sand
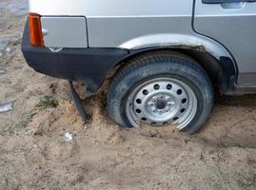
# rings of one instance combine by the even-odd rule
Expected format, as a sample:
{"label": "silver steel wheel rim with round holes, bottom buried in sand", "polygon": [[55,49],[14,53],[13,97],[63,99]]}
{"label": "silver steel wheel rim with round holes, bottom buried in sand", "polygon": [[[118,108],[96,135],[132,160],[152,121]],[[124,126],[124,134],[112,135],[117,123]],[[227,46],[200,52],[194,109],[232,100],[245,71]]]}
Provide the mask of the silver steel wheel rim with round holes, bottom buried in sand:
{"label": "silver steel wheel rim with round holes, bottom buried in sand", "polygon": [[179,130],[192,121],[197,111],[194,91],[184,82],[156,78],[137,86],[128,96],[126,112],[133,126],[175,123]]}

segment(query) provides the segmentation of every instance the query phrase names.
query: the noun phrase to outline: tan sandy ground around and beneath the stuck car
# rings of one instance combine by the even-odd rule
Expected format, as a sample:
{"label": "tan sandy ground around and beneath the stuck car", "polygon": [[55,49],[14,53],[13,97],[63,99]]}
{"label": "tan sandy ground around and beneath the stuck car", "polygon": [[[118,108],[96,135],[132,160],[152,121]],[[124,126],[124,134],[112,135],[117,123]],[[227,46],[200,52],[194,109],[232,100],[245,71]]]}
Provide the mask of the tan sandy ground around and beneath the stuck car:
{"label": "tan sandy ground around and beneath the stuck car", "polygon": [[[119,128],[104,94],[83,124],[66,81],[20,52],[25,0],[0,1],[0,189],[256,189],[256,96],[222,97],[200,133]],[[66,142],[65,133],[73,134]]]}

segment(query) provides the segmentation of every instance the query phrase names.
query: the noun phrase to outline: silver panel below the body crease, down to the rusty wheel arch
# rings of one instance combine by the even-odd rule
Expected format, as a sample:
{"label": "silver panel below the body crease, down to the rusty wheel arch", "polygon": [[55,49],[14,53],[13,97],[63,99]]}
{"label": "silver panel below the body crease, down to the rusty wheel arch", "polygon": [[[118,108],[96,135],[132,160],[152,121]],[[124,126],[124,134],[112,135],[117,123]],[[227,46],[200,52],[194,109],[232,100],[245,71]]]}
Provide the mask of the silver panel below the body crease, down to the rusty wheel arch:
{"label": "silver panel below the body crease, down to the rusty wheel arch", "polygon": [[200,47],[216,59],[231,58],[225,47],[195,33],[191,19],[191,16],[88,19],[89,47]]}

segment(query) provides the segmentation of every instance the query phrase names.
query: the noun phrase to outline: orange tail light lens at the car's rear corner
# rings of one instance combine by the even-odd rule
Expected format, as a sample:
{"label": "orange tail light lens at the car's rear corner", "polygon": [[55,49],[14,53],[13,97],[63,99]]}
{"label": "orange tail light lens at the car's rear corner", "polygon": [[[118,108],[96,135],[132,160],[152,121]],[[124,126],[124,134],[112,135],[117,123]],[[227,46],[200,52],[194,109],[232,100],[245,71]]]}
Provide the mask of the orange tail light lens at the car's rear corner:
{"label": "orange tail light lens at the car's rear corner", "polygon": [[44,47],[40,15],[36,14],[36,13],[30,13],[29,25],[30,25],[30,43],[31,43],[31,45],[35,46],[35,47]]}

